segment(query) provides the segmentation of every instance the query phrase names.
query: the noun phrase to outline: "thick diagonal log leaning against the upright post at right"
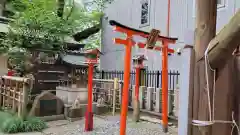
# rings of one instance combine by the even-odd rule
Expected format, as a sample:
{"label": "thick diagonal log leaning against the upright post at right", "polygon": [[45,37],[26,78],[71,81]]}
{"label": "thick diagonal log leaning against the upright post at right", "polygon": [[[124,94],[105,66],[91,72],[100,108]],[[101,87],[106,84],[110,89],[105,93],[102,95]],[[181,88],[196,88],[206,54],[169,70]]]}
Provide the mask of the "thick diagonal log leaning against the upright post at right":
{"label": "thick diagonal log leaning against the upright post at right", "polygon": [[222,68],[239,45],[240,10],[210,42],[208,59],[212,68]]}

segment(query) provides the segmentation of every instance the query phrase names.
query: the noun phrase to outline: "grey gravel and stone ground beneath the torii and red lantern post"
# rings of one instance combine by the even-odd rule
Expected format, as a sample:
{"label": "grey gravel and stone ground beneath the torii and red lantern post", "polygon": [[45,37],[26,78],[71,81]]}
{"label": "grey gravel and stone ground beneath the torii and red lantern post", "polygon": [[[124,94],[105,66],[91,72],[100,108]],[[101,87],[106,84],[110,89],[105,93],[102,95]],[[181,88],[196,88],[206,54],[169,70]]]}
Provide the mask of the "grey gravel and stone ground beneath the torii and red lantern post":
{"label": "grey gravel and stone ground beneath the torii and red lantern post", "polygon": [[[69,122],[66,120],[49,122],[49,128],[42,133],[22,133],[16,135],[119,135],[119,116],[94,117],[94,130],[84,132],[84,119]],[[177,129],[170,127],[169,133],[164,134],[159,124],[146,121],[127,122],[127,135],[177,135]]]}

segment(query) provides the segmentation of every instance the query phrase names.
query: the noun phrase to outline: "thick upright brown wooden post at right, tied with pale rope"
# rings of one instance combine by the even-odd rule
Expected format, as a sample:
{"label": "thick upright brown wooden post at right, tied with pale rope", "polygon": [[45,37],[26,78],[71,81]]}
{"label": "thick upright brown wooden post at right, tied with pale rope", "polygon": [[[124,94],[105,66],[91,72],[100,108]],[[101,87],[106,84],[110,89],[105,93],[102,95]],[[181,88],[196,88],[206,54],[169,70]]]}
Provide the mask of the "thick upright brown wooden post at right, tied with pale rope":
{"label": "thick upright brown wooden post at right, tied with pale rope", "polygon": [[[193,120],[209,120],[208,95],[206,92],[204,53],[216,34],[217,0],[197,0],[197,21],[195,35],[195,70],[193,94]],[[212,97],[213,76],[208,71],[209,91]],[[212,99],[211,105],[212,105]],[[201,132],[200,132],[201,131]],[[192,135],[209,135],[211,126],[200,129],[193,127]]]}

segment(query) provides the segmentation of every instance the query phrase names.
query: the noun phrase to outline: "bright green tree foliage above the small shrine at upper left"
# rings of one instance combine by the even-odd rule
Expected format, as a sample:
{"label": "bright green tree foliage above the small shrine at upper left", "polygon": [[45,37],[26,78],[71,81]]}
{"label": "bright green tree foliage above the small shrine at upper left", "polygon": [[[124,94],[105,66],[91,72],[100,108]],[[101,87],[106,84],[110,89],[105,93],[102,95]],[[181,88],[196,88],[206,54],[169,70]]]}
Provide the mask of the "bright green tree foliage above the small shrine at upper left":
{"label": "bright green tree foliage above the small shrine at upper left", "polygon": [[[95,7],[89,8],[89,5],[65,0],[59,17],[56,0],[10,0],[7,7],[14,12],[13,21],[2,40],[0,51],[9,56],[12,68],[27,72],[39,57],[33,50],[64,52],[67,37],[99,24],[103,15],[100,7],[104,1],[94,1]],[[99,33],[89,39],[88,45],[99,46]]]}

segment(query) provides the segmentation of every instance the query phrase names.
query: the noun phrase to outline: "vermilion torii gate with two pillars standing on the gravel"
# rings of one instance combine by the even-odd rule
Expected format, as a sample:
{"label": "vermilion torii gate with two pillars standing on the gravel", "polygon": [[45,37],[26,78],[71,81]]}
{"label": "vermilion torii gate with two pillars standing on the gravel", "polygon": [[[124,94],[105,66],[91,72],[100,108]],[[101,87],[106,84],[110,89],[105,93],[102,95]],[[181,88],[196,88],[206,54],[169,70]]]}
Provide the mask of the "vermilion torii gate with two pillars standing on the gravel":
{"label": "vermilion torii gate with two pillars standing on the gravel", "polygon": [[[130,77],[130,67],[131,67],[131,61],[130,61],[130,58],[131,58],[131,47],[133,44],[135,44],[135,42],[132,40],[132,36],[133,35],[140,35],[144,38],[148,38],[149,37],[151,38],[152,36],[149,36],[151,35],[150,33],[146,33],[144,31],[140,31],[140,30],[136,30],[136,29],[133,29],[133,28],[130,28],[130,27],[127,27],[127,26],[124,26],[116,21],[113,21],[111,20],[110,22],[110,25],[112,26],[115,26],[114,27],[114,31],[118,31],[118,32],[121,32],[121,33],[125,33],[127,35],[127,38],[126,40],[123,40],[123,39],[114,39],[114,42],[116,44],[124,44],[125,47],[126,47],[126,55],[125,55],[125,62],[124,62],[124,87],[123,87],[123,99],[122,99],[122,108],[121,108],[121,121],[120,121],[120,135],[125,135],[126,134],[126,118],[127,118],[127,109],[128,109],[128,86],[129,86],[129,77]],[[156,33],[154,32],[153,35],[155,35]],[[164,67],[165,67],[165,70],[167,72],[167,53],[172,53],[174,52],[173,49],[169,49],[168,48],[168,44],[175,44],[176,43],[176,40],[177,38],[169,38],[169,37],[163,37],[163,36],[159,36],[157,37],[157,40],[160,40],[162,42],[164,42],[164,47],[154,47],[154,50],[158,50],[158,51],[162,51],[162,49],[164,50],[163,53],[165,54],[164,55]],[[151,40],[151,41],[154,41],[154,40]],[[138,43],[138,46],[139,48],[145,48],[147,47],[149,49],[149,46],[148,46],[148,43]],[[153,49],[151,46],[150,46],[150,49]],[[167,76],[167,73],[165,74],[165,77]],[[165,79],[166,80],[166,79]],[[167,104],[167,80],[164,82],[165,84],[165,94],[164,94],[164,101],[165,103],[164,104]],[[166,123],[167,123],[167,105],[165,105],[166,107],[164,107],[163,109],[163,112],[165,113],[164,115],[164,124],[165,126],[164,127],[164,131],[167,131],[166,129]]]}

